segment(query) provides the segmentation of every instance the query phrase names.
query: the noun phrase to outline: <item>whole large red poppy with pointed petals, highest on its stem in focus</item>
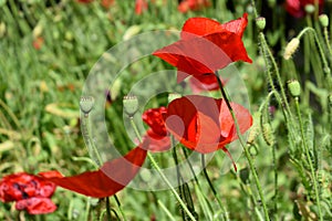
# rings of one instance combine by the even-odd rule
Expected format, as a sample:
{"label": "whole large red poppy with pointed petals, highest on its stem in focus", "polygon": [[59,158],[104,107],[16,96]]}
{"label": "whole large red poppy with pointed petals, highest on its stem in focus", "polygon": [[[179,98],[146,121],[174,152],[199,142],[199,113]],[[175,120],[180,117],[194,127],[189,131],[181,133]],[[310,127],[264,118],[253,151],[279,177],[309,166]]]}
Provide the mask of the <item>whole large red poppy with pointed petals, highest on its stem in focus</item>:
{"label": "whole large red poppy with pointed petals, highest on its stem in focus", "polygon": [[188,75],[215,73],[235,61],[251,63],[241,41],[247,17],[245,13],[242,18],[225,24],[207,18],[189,19],[183,27],[181,39],[153,55],[178,69],[178,82]]}

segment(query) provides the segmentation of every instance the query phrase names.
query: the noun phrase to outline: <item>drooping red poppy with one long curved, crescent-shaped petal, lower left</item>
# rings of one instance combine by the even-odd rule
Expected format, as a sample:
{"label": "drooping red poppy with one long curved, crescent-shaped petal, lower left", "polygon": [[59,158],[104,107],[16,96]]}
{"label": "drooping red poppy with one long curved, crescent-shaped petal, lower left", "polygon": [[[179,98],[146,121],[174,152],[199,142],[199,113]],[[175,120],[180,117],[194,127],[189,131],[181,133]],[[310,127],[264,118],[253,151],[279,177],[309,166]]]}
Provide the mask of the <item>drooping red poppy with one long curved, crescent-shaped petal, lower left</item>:
{"label": "drooping red poppy with one long curved, crescent-shaped petal, lower left", "polygon": [[[143,146],[145,145],[148,145],[148,143],[145,141]],[[81,194],[94,198],[110,197],[122,190],[134,179],[146,158],[146,149],[138,146],[124,157],[106,161],[96,171],[62,178],[40,175],[44,180]]]}

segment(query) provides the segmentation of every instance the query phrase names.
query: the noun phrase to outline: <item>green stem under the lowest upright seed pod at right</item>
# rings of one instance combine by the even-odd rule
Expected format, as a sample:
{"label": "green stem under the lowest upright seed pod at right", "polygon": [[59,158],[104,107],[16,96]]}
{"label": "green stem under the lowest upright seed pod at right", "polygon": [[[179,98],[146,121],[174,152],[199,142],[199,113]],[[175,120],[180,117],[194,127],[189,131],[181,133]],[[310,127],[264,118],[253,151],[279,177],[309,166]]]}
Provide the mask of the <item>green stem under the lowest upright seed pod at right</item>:
{"label": "green stem under the lowest upright seed pod at right", "polygon": [[298,97],[295,97],[295,107],[297,107],[297,114],[298,114],[299,124],[300,124],[301,138],[302,138],[302,141],[303,141],[304,151],[305,151],[305,155],[307,155],[307,160],[309,162],[310,172],[311,172],[311,177],[312,177],[312,180],[313,180],[313,188],[314,188],[314,193],[315,193],[317,207],[318,207],[318,211],[319,211],[319,218],[322,221],[323,220],[323,213],[322,213],[322,209],[321,209],[318,180],[317,180],[317,176],[315,176],[314,168],[313,168],[313,165],[312,165],[312,159],[310,157],[307,138],[305,138],[305,135],[304,135],[304,125],[303,125],[303,122],[302,122],[302,118],[301,118],[301,112],[300,112],[300,105],[299,105],[299,98]]}

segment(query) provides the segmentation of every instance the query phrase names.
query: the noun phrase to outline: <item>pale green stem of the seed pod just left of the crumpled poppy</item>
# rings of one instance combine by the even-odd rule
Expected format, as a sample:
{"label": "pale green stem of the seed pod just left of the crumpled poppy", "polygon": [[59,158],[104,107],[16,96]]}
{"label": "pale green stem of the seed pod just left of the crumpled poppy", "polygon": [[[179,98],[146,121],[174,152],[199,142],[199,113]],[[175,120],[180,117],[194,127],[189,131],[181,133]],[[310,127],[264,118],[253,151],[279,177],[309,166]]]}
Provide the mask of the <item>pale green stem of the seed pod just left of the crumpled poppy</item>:
{"label": "pale green stem of the seed pod just left of the crumpled poppy", "polygon": [[[136,124],[134,122],[133,117],[129,117],[131,119],[131,125],[139,140],[139,143],[142,143],[142,137],[141,134],[136,127]],[[157,170],[157,172],[159,173],[159,176],[162,177],[162,179],[166,182],[166,185],[169,187],[170,191],[173,192],[173,194],[175,196],[175,198],[177,199],[177,201],[180,203],[181,208],[184,209],[184,211],[187,213],[187,215],[190,218],[190,220],[196,221],[195,217],[191,214],[191,212],[189,211],[189,209],[187,208],[187,206],[185,204],[185,202],[181,200],[180,196],[177,193],[177,191],[174,189],[174,187],[172,186],[172,183],[169,182],[169,180],[167,179],[167,177],[163,173],[162,169],[159,168],[158,164],[156,162],[155,158],[147,151],[147,158],[149,159],[151,164],[153,165],[153,167]]]}

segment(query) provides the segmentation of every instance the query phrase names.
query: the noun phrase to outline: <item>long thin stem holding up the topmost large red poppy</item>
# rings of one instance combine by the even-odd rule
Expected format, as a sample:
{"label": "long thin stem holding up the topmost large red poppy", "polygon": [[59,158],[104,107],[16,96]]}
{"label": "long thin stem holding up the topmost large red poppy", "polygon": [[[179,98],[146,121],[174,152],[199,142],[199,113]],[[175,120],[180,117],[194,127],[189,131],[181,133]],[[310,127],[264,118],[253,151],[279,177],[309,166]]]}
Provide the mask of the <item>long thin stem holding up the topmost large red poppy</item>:
{"label": "long thin stem holding up the topmost large red poppy", "polygon": [[249,166],[250,166],[250,169],[251,169],[251,172],[252,172],[252,176],[253,176],[253,180],[255,180],[255,183],[256,183],[256,187],[257,187],[257,190],[258,190],[258,193],[259,193],[259,197],[260,197],[260,200],[261,200],[261,203],[262,203],[262,207],[263,207],[263,212],[264,212],[264,217],[266,217],[266,220],[270,220],[270,217],[269,217],[269,212],[268,212],[268,208],[267,208],[267,203],[266,203],[266,199],[264,199],[264,196],[262,193],[262,189],[261,189],[261,185],[260,185],[260,181],[259,181],[259,178],[258,178],[258,175],[257,175],[257,170],[256,170],[256,167],[255,167],[255,162],[251,158],[251,155],[249,152],[249,149],[247,148],[246,146],[246,141],[241,135],[241,131],[240,131],[240,127],[239,127],[239,124],[238,124],[238,120],[237,120],[237,117],[234,113],[234,109],[231,108],[230,106],[230,103],[229,103],[229,97],[227,96],[226,94],[226,91],[222,86],[222,83],[220,81],[220,78],[218,77],[218,74],[216,73],[216,77],[217,77],[217,81],[218,81],[218,84],[219,84],[219,87],[220,87],[220,91],[221,91],[221,94],[224,96],[224,99],[229,108],[229,112],[231,114],[231,117],[235,122],[235,126],[236,126],[236,130],[237,130],[237,134],[238,134],[238,137],[239,137],[239,140],[240,140],[240,144],[242,146],[242,148],[245,149],[245,155],[246,155],[246,158],[248,159],[248,162],[249,162]]}

